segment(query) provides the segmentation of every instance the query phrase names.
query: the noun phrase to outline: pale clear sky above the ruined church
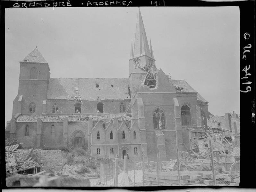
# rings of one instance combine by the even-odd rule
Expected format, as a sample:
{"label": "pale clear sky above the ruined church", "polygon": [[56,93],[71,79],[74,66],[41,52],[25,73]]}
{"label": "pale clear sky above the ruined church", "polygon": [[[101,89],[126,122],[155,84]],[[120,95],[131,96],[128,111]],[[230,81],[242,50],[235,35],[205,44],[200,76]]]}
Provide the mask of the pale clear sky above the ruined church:
{"label": "pale clear sky above the ruined church", "polygon": [[[240,114],[239,7],[141,7],[156,67],[185,79],[209,112]],[[5,122],[20,63],[37,46],[53,78],[128,78],[138,7],[5,9]]]}

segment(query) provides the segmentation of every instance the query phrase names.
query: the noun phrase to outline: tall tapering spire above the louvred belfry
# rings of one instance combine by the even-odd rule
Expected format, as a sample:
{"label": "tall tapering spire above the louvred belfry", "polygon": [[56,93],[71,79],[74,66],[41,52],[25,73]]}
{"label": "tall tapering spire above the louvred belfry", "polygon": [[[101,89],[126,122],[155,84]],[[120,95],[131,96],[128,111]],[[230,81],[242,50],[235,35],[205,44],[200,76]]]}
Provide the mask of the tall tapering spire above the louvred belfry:
{"label": "tall tapering spire above the louvred belfry", "polygon": [[139,8],[139,12],[137,16],[133,56],[138,57],[141,55],[147,55],[150,57],[148,39],[146,36],[146,31],[145,31],[144,24],[141,17],[141,10]]}

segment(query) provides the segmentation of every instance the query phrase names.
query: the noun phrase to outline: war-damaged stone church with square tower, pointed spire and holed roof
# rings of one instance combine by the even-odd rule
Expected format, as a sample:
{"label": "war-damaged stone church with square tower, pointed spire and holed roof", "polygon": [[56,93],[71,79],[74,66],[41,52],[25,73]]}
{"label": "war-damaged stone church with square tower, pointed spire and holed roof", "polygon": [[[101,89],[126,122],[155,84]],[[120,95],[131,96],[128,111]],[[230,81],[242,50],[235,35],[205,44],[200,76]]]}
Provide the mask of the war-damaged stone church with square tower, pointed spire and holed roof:
{"label": "war-damaged stone church with square tower, pointed spire and holed roof", "polygon": [[[157,68],[141,12],[128,78],[51,78],[35,48],[20,62],[18,95],[6,131],[22,146],[85,147],[94,157],[176,158],[189,130],[206,129],[208,102],[185,80]],[[176,133],[177,132],[177,133]]]}

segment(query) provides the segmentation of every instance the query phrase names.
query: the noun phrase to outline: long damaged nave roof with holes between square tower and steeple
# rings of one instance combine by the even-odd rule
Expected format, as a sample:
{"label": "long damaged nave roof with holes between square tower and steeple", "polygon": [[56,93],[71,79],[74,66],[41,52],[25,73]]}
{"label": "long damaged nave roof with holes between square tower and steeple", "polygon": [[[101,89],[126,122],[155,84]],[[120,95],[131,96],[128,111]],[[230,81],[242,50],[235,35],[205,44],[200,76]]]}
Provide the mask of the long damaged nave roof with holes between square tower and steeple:
{"label": "long damaged nave roof with holes between square tower and steeple", "polygon": [[81,100],[131,99],[128,84],[128,78],[50,78],[47,99],[73,100],[73,96],[80,96]]}

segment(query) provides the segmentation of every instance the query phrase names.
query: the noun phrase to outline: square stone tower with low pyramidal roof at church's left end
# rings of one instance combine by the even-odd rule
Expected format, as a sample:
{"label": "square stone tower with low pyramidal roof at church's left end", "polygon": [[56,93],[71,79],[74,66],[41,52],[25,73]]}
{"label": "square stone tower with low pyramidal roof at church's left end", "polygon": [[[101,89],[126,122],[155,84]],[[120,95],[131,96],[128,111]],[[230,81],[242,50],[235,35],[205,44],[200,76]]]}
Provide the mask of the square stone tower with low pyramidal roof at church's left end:
{"label": "square stone tower with low pyramidal roof at church's left end", "polygon": [[19,90],[13,101],[13,115],[42,114],[49,78],[49,65],[36,47],[20,61]]}

